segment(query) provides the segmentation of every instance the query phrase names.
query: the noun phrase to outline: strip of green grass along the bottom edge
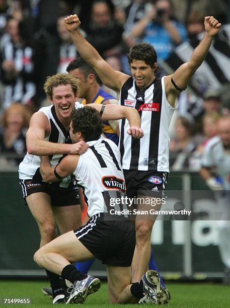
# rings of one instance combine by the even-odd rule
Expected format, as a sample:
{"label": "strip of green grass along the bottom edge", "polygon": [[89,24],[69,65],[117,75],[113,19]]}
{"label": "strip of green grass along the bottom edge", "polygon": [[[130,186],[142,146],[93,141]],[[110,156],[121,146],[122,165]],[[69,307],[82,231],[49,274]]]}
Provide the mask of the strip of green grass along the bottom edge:
{"label": "strip of green grass along the bottom edge", "polygon": [[[30,298],[30,304],[0,304],[1,307],[53,307],[51,299],[44,296],[41,288],[48,286],[47,281],[19,281],[0,280],[0,298]],[[230,286],[216,283],[167,283],[172,299],[166,306],[169,308],[228,308],[230,307]],[[59,305],[60,306],[60,305]],[[61,305],[63,306],[63,305]],[[71,305],[72,307],[121,307],[109,304],[107,285],[102,283],[101,289],[90,295],[84,305]],[[125,305],[127,307],[140,307],[138,304]],[[142,305],[144,306],[144,305]],[[146,306],[153,306],[146,304]],[[163,307],[163,306],[162,306]]]}

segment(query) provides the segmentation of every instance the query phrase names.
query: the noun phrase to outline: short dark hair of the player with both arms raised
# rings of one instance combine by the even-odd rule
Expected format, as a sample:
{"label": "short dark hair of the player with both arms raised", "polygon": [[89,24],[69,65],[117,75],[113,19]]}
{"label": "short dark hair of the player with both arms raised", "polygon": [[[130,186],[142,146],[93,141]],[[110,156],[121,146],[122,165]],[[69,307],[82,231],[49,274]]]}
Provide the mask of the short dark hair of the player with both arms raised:
{"label": "short dark hair of the player with both arms raised", "polygon": [[136,44],[130,48],[128,53],[129,65],[133,60],[142,60],[146,64],[154,68],[154,63],[158,61],[158,56],[155,48],[147,43]]}

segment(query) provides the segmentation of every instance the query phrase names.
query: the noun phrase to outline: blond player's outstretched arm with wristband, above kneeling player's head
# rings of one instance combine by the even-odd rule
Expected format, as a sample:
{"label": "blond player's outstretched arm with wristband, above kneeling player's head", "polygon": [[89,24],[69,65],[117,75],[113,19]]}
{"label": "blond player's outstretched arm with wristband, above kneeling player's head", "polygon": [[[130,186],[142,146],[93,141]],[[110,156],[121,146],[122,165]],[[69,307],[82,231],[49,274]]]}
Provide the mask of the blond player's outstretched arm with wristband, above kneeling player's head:
{"label": "blond player's outstretched arm with wristband, above kneeling player's head", "polygon": [[[102,108],[102,105],[100,104],[88,104],[87,106],[94,107],[99,112]],[[120,120],[125,118],[128,119],[130,126],[127,130],[127,133],[135,138],[142,138],[144,132],[140,128],[140,116],[136,109],[126,106],[109,104],[105,106],[104,112],[102,114],[102,119],[107,121]]]}

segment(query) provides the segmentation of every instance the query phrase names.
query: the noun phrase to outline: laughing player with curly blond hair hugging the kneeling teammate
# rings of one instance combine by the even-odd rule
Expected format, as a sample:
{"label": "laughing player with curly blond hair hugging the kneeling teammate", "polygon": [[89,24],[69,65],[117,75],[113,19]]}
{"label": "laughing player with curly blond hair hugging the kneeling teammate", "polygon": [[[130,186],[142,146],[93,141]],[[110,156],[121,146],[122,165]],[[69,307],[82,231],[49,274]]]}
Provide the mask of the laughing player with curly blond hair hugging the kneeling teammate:
{"label": "laughing player with curly blond hair hugging the kneeling teammate", "polygon": [[[26,135],[28,153],[19,166],[23,197],[38,224],[40,246],[56,237],[56,223],[61,234],[82,223],[78,188],[73,177],[69,175],[54,184],[45,183],[39,173],[39,156],[48,155],[51,164],[56,165],[66,154],[82,154],[89,147],[85,141],[71,144],[69,136],[72,110],[84,107],[76,102],[78,81],[66,73],[58,73],[47,78],[44,89],[52,105],[41,108],[32,116]],[[91,106],[101,111],[104,120],[128,118],[130,128],[127,132],[135,137],[142,136],[137,111],[130,113],[129,108],[118,105],[105,106],[104,111],[99,104]],[[49,271],[47,275],[53,291],[53,303],[61,302],[64,291],[59,277]]]}

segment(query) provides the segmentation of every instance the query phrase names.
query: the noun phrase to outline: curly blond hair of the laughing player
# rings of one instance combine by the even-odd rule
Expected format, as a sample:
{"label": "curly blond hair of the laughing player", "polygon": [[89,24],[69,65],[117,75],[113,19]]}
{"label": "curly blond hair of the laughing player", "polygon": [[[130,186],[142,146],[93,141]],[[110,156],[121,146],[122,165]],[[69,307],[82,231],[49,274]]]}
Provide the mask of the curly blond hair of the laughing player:
{"label": "curly blond hair of the laughing player", "polygon": [[48,99],[52,101],[53,88],[61,85],[70,85],[74,96],[79,95],[78,80],[67,73],[57,73],[53,76],[48,76],[44,84],[44,90]]}

